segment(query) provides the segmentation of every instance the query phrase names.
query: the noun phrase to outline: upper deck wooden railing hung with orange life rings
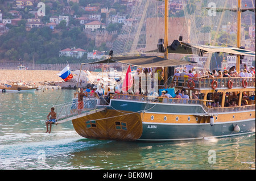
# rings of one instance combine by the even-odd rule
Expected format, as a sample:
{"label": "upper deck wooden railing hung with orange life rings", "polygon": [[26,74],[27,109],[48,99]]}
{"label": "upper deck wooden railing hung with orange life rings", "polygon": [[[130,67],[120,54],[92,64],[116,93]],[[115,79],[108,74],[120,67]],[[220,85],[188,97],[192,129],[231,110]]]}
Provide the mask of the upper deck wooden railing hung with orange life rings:
{"label": "upper deck wooden railing hung with orange life rings", "polygon": [[[228,82],[232,81],[233,89],[241,88],[244,89],[245,85],[243,85],[243,80],[246,81],[246,87],[255,87],[255,77],[221,77],[221,78],[184,78],[184,80],[180,80],[181,77],[174,76],[172,79],[172,83],[175,83],[176,86],[188,87],[187,83],[189,80],[195,82],[195,89],[212,89],[212,82],[216,81],[217,86],[216,89],[229,89]],[[183,77],[182,77],[183,78]]]}

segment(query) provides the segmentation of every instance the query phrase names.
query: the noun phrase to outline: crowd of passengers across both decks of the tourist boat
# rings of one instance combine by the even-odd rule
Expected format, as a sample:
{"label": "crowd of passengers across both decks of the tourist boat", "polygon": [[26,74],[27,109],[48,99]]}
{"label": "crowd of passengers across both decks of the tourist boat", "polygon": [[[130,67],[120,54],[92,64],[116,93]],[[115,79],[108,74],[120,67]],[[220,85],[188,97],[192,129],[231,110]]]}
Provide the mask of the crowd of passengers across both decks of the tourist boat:
{"label": "crowd of passengers across both decks of the tourist boat", "polygon": [[[178,80],[180,81],[184,81],[184,78],[187,77],[188,81],[191,80],[192,78],[197,78],[197,77],[209,77],[209,78],[221,78],[221,77],[255,77],[255,70],[253,66],[250,66],[250,68],[248,66],[243,65],[244,69],[241,69],[240,74],[237,73],[236,71],[236,67],[232,66],[232,68],[230,68],[229,70],[224,70],[223,72],[221,72],[220,70],[216,71],[216,70],[212,70],[212,72],[210,72],[209,70],[204,71],[198,71],[198,70],[193,70],[193,66],[192,65],[187,65],[185,66],[185,68],[181,71],[179,69],[175,70],[175,74],[174,74],[174,81],[172,83],[170,83],[169,85],[167,85],[167,82],[163,85],[162,87],[162,91],[156,92],[156,91],[152,91],[148,92],[147,91],[147,87],[146,90],[143,90],[141,87],[141,74],[150,74],[151,75],[151,83],[153,81],[153,76],[152,73],[158,73],[158,84],[161,84],[161,81],[163,82],[163,68],[154,68],[154,69],[150,69],[150,68],[138,68],[137,71],[134,74],[133,77],[133,82],[135,82],[136,79],[138,79],[138,89],[134,90],[134,85],[133,85],[133,91],[128,91],[128,92],[122,92],[122,80],[119,79],[117,80],[117,84],[115,85],[115,87],[109,87],[108,86],[108,92],[106,92],[105,94],[105,87],[104,84],[101,83],[100,85],[98,85],[98,87],[92,85],[88,86],[87,89],[85,89],[85,93],[86,96],[90,96],[90,97],[100,97],[100,96],[105,96],[106,101],[109,103],[110,100],[110,96],[112,95],[117,95],[117,94],[123,94],[123,95],[137,95],[137,96],[155,96],[158,97],[160,99],[160,102],[172,102],[172,100],[170,98],[176,98],[176,99],[203,99],[204,98],[204,94],[200,94],[200,92],[196,91],[192,91],[191,95],[188,95],[188,92],[184,89],[177,89],[175,88],[175,81],[176,78],[178,78]],[[195,72],[195,74],[193,74],[193,71]],[[173,89],[173,90],[172,90]],[[170,92],[168,92],[168,90],[174,92],[174,94],[169,94]],[[159,96],[160,94],[160,96]],[[143,99],[142,97],[133,97],[133,99]],[[226,95],[228,96],[228,95]],[[119,96],[120,98],[120,96]],[[131,97],[129,97],[131,98]],[[169,99],[163,99],[163,98],[169,98]],[[228,100],[228,99],[225,99]],[[175,101],[174,101],[175,102]],[[247,105],[247,100],[243,100],[241,106],[243,105]],[[208,107],[221,107],[220,105],[220,100],[214,100],[213,102],[208,102],[207,103]],[[226,102],[225,107],[232,107],[232,106],[237,106],[235,101],[230,101],[230,102]]]}

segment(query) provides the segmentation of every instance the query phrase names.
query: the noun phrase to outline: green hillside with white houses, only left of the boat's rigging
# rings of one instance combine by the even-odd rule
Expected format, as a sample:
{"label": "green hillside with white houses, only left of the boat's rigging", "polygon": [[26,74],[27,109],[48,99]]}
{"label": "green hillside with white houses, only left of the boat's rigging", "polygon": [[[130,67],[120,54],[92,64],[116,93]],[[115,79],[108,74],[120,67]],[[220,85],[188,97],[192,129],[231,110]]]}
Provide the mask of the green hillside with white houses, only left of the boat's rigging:
{"label": "green hillside with white houses, only left of the boat's rigging", "polygon": [[127,25],[135,2],[0,1],[0,62],[53,64],[102,58]]}

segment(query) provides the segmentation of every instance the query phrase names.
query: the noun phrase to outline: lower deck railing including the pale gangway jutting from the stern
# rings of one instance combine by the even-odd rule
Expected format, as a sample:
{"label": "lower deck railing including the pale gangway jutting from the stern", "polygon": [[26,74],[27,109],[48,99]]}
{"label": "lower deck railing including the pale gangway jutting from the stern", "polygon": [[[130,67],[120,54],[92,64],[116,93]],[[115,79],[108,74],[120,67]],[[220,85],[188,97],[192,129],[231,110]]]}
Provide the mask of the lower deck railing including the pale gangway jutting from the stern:
{"label": "lower deck railing including the pale gangway jutting from the stern", "polygon": [[205,106],[205,102],[213,102],[212,100],[201,100],[201,99],[180,99],[180,98],[162,98],[159,96],[142,96],[142,95],[132,95],[132,94],[114,94],[112,96],[100,96],[98,97],[87,97],[84,99],[84,107],[79,110],[79,103],[77,99],[72,102],[59,104],[54,106],[55,112],[57,113],[57,123],[63,123],[68,120],[73,120],[79,117],[89,115],[91,113],[100,112],[105,110],[106,106],[111,106],[110,99],[120,99],[120,100],[133,100],[136,102],[151,102],[156,104],[194,104],[201,105],[205,113],[214,114],[221,112],[234,112],[234,111],[250,111],[255,110],[255,104],[247,106],[236,106],[236,107],[218,107],[211,108]]}

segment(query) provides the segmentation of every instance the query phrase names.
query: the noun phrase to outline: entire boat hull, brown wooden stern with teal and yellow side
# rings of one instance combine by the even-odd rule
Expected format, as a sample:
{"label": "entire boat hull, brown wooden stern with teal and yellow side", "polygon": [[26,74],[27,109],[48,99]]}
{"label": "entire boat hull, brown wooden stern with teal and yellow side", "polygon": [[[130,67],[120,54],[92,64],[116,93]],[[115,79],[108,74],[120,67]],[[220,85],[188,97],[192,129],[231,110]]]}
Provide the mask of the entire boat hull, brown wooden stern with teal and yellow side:
{"label": "entire boat hull, brown wooden stern with teal and yellow side", "polygon": [[[110,105],[106,111],[72,120],[77,133],[86,138],[104,140],[177,141],[255,132],[255,110],[209,115],[199,104],[111,100]],[[94,128],[88,128],[86,124],[91,120]],[[125,123],[127,130],[116,129],[116,121]],[[239,131],[234,129],[236,125]]]}

